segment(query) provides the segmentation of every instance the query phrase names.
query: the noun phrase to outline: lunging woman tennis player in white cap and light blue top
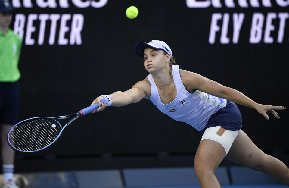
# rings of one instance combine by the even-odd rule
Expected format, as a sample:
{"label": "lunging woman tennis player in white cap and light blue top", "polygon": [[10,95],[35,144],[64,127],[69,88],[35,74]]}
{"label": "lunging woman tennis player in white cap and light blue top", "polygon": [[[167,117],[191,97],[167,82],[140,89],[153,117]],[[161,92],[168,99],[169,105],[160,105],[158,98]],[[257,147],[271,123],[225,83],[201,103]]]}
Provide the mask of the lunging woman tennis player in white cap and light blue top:
{"label": "lunging woman tennis player in white cap and light blue top", "polygon": [[[144,58],[144,67],[150,74],[132,89],[97,97],[92,105],[97,103],[100,108],[93,113],[106,106],[124,106],[142,98],[149,99],[164,114],[203,132],[194,160],[203,188],[220,187],[214,171],[225,157],[289,186],[287,166],[261,151],[241,130],[242,117],[235,103],[256,109],[267,120],[268,111],[279,118],[276,110],[284,110],[283,106],[258,104],[235,89],[179,69],[171,49],[163,41],[139,42],[135,52]],[[107,102],[101,104],[102,99]]]}

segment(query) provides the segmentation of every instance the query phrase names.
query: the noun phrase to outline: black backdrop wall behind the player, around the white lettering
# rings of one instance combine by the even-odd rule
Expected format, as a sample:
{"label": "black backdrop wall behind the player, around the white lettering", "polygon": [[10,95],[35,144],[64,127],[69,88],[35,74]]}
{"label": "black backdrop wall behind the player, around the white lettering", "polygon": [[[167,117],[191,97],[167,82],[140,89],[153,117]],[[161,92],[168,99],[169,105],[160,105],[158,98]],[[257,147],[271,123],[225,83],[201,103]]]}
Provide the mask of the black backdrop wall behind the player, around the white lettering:
{"label": "black backdrop wall behind the player, around the white lettering", "polygon": [[[193,1],[108,0],[101,8],[78,8],[68,1],[69,8],[60,8],[56,1],[56,8],[40,8],[32,1],[33,7],[26,8],[20,1],[21,7],[16,8],[16,14],[23,14],[26,19],[19,64],[22,74],[19,120],[71,114],[90,105],[101,94],[130,89],[148,74],[143,59],[135,55],[134,47],[139,41],[152,39],[163,40],[171,47],[181,69],[235,88],[258,103],[288,106],[289,19],[285,19],[282,42],[277,41],[278,14],[288,14],[288,5],[282,7],[271,1],[271,7],[265,7],[259,1],[259,7],[252,7],[248,1],[246,8],[234,0],[235,8],[230,8],[221,0],[222,8],[214,5],[188,8],[189,2]],[[138,17],[132,20],[125,15],[126,8],[131,5],[139,10]],[[220,42],[222,18],[217,22],[220,31],[216,32],[215,42],[209,43],[213,13],[229,15],[228,44]],[[232,42],[234,13],[245,15],[237,44]],[[261,13],[264,21],[262,40],[252,44],[249,38],[254,13]],[[272,19],[274,29],[269,34],[272,43],[263,41],[265,28],[269,28],[266,27],[268,13],[277,15]],[[47,20],[44,43],[39,45],[40,21],[37,19],[33,21],[35,32],[31,34],[35,43],[26,44],[30,14],[70,14],[71,18],[73,14],[82,14],[82,43],[58,45],[58,20],[55,43],[49,45],[51,21]],[[66,23],[68,41],[71,23],[72,19]],[[281,119],[269,114],[270,119],[266,121],[257,111],[238,107],[243,116],[242,129],[257,146],[268,153],[288,153],[287,110],[279,113]],[[143,99],[136,104],[109,107],[78,119],[67,127],[54,146],[32,156],[185,154],[196,151],[200,138],[201,134],[194,128],[170,119],[149,100]]]}

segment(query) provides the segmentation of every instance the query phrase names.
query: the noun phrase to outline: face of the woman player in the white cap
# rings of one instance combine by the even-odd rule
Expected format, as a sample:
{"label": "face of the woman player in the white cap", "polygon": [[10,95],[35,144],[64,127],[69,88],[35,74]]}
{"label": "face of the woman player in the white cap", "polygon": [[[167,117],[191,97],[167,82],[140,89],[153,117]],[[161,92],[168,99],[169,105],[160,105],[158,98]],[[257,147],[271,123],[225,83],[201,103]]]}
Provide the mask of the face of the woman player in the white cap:
{"label": "face of the woman player in the white cap", "polygon": [[165,55],[163,50],[153,48],[144,49],[144,67],[149,73],[169,66],[166,60],[167,55]]}

